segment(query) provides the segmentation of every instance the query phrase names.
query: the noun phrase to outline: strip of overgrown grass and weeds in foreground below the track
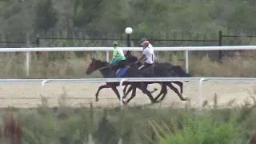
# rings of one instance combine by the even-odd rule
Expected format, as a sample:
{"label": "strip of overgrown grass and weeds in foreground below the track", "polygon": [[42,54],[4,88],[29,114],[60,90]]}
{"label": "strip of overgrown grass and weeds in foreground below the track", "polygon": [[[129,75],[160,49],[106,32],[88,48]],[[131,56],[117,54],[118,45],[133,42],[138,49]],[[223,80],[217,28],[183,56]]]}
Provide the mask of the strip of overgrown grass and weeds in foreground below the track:
{"label": "strip of overgrown grass and weeds in foreground below the track", "polygon": [[1,110],[0,140],[6,144],[245,144],[254,141],[255,107],[254,101],[200,113],[188,106],[8,108]]}

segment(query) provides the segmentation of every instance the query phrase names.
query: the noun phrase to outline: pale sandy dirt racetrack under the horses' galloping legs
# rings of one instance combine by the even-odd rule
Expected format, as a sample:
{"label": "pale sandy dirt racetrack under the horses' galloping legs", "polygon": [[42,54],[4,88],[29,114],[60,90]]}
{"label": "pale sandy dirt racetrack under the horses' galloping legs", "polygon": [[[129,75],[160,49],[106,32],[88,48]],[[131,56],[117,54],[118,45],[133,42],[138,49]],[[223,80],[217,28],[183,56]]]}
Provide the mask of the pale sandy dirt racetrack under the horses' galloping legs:
{"label": "pale sandy dirt racetrack under the horses' galloping legs", "polygon": [[[35,107],[42,104],[42,98],[47,99],[49,106],[89,106],[93,102],[94,106],[118,106],[118,99],[111,89],[104,89],[99,94],[99,101],[95,102],[94,94],[98,90],[98,86],[103,83],[47,83],[44,90],[41,91],[41,83],[30,84],[0,84],[0,106],[14,107]],[[174,86],[176,86],[174,84]],[[252,102],[250,96],[255,96],[254,82],[203,82],[202,84],[202,101],[207,100],[213,104],[214,93],[218,95],[218,104],[223,105],[232,100],[234,104],[240,104],[248,99]],[[152,84],[149,90],[154,87],[158,91],[153,94],[155,97],[160,86]],[[177,86],[176,86],[177,87]],[[64,92],[65,90],[65,92]],[[178,89],[179,90],[179,89]],[[190,98],[192,106],[198,106],[198,82],[184,82],[183,96]],[[127,98],[130,97],[130,94]],[[43,100],[44,101],[44,100]],[[136,97],[128,104],[145,105],[150,100],[146,94],[137,90]],[[168,94],[162,103],[156,103],[154,106],[185,106],[186,102],[181,102],[176,94],[168,88]]]}

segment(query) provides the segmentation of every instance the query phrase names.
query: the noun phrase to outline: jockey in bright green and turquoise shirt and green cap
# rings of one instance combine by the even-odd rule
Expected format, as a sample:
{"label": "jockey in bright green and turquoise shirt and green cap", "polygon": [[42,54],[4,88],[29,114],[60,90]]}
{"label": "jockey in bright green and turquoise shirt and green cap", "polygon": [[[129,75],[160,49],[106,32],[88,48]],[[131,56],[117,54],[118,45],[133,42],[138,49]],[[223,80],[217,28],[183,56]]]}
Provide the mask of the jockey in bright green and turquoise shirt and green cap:
{"label": "jockey in bright green and turquoise shirt and green cap", "polygon": [[115,77],[116,70],[126,66],[126,57],[123,54],[122,49],[118,47],[118,42],[113,42],[113,46],[114,46],[113,57],[110,61],[110,68],[111,68],[111,71],[109,74],[110,78]]}

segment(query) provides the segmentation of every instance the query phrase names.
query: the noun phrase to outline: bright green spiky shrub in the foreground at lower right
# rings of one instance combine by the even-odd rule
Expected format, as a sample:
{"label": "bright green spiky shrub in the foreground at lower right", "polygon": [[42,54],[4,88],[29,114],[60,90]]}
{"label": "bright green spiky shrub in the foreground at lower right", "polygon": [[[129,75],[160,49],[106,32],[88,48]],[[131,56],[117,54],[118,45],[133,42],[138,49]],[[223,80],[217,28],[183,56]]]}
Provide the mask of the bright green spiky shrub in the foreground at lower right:
{"label": "bright green spiky shrub in the foreground at lower right", "polygon": [[178,119],[174,118],[172,122],[169,127],[166,124],[161,127],[157,122],[150,122],[160,144],[234,144],[238,141],[241,131],[236,118],[230,118],[228,122],[212,121],[206,116],[186,113],[182,115],[182,128],[177,124]]}

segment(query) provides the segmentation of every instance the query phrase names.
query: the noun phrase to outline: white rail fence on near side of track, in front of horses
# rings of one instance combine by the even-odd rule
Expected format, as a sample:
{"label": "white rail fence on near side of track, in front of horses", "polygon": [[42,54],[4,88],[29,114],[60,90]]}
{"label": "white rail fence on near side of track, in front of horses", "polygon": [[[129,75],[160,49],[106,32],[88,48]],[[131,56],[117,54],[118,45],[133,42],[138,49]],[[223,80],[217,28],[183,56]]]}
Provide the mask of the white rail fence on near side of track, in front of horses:
{"label": "white rail fence on near side of track, in front of horses", "polygon": [[[222,81],[222,82],[256,82],[256,78],[81,78],[81,79],[0,79],[0,83],[41,83],[41,90],[46,83],[82,83],[82,82],[119,82],[120,105],[122,103],[122,83],[123,82],[170,82],[170,81],[196,81],[198,82],[198,110],[202,110],[202,82]],[[41,92],[42,92],[41,91]]]}

